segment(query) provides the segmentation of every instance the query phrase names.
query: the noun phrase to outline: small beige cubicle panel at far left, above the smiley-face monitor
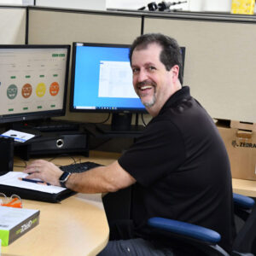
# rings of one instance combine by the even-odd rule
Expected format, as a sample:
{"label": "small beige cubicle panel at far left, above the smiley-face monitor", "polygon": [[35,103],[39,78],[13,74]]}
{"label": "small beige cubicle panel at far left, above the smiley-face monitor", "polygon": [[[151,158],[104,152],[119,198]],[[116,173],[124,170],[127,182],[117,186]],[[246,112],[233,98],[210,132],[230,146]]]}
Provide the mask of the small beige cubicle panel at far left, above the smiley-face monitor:
{"label": "small beige cubicle panel at far left, above the smiley-face monitor", "polygon": [[0,7],[0,44],[25,44],[26,9]]}

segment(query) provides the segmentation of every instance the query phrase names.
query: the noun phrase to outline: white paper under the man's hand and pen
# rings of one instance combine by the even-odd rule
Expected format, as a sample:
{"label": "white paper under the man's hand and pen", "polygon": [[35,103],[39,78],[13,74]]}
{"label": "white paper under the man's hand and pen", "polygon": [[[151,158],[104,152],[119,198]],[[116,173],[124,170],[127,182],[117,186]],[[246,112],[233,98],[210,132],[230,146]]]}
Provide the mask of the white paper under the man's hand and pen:
{"label": "white paper under the man's hand and pen", "polygon": [[23,180],[20,180],[19,177],[26,177],[27,174],[24,172],[8,172],[7,174],[4,174],[0,176],[0,184],[2,185],[8,185],[23,189],[32,189],[37,190],[41,192],[46,192],[50,194],[57,194],[65,188],[53,186],[53,185],[45,185],[44,183],[30,183]]}

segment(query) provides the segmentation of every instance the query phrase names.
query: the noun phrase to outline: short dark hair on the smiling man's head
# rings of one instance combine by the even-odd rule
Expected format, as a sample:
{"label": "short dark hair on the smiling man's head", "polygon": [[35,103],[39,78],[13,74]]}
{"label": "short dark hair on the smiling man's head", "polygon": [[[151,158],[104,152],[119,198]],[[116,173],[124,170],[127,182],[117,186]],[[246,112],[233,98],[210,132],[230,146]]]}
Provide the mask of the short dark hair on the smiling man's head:
{"label": "short dark hair on the smiling man's head", "polygon": [[165,65],[166,70],[170,71],[174,65],[179,67],[178,79],[183,84],[183,60],[182,52],[174,38],[170,38],[160,33],[144,34],[134,40],[131,44],[129,53],[130,63],[131,56],[135,48],[146,49],[148,44],[160,44],[162,51],[160,52],[160,61]]}

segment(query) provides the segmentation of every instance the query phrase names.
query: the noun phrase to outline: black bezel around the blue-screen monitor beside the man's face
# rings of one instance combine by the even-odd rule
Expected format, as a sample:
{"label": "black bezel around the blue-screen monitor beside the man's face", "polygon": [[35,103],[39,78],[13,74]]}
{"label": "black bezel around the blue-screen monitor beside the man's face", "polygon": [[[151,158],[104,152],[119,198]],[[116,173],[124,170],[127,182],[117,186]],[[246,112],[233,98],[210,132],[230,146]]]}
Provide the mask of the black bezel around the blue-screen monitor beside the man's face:
{"label": "black bezel around the blue-screen monitor beside the man's face", "polygon": [[69,111],[80,112],[80,113],[148,113],[146,108],[118,108],[118,109],[99,109],[99,108],[74,108],[73,96],[74,96],[74,79],[75,79],[75,63],[76,63],[76,46],[80,44],[82,46],[98,46],[98,47],[116,47],[116,48],[131,48],[131,44],[104,44],[104,43],[84,43],[84,42],[73,42],[72,52],[72,72],[71,72],[71,84],[70,84],[70,101]]}

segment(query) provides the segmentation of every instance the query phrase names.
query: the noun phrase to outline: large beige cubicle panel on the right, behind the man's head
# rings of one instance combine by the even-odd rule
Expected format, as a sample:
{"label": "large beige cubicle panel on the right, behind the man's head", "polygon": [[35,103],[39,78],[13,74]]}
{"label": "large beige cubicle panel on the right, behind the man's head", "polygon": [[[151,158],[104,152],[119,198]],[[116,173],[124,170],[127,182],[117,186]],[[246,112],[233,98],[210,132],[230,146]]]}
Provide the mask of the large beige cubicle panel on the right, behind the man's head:
{"label": "large beige cubicle panel on the right, behind the man's head", "polygon": [[212,118],[256,122],[256,22],[224,17],[145,17],[144,33],[162,32],[186,47],[184,84]]}

